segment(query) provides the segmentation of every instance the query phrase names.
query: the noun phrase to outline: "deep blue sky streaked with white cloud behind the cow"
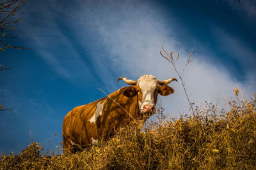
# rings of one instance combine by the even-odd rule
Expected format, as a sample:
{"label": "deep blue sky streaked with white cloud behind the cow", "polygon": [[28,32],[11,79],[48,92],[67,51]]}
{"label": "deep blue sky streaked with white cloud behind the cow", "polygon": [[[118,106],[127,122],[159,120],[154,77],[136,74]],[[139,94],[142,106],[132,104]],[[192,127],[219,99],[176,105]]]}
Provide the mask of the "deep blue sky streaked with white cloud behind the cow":
{"label": "deep blue sky streaked with white cloud behind the cow", "polygon": [[[246,97],[256,87],[256,3],[219,1],[30,1],[20,11],[19,37],[0,63],[0,151],[19,153],[31,140],[54,150],[62,121],[72,108],[110,94],[125,76],[177,75],[159,55],[161,45],[180,53],[192,102],[219,103],[239,85]],[[189,113],[180,81],[175,93],[159,97],[170,117]],[[99,88],[99,89],[97,89]],[[29,131],[30,135],[29,135]],[[56,134],[57,136],[54,136]],[[49,143],[49,140],[51,141]]]}

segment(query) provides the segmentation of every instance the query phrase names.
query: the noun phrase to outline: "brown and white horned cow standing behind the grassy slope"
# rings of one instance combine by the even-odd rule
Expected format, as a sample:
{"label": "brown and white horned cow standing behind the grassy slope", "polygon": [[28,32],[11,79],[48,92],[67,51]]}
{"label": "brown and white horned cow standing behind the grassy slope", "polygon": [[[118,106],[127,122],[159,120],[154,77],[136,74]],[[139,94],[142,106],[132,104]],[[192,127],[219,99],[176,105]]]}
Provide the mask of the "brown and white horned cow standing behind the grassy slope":
{"label": "brown and white horned cow standing behind the grassy slope", "polygon": [[120,77],[131,85],[122,87],[102,99],[69,111],[63,120],[63,153],[75,153],[113,136],[114,129],[136,120],[145,120],[156,113],[157,95],[168,96],[174,92],[168,86],[176,78],[159,81],[152,75],[138,80]]}

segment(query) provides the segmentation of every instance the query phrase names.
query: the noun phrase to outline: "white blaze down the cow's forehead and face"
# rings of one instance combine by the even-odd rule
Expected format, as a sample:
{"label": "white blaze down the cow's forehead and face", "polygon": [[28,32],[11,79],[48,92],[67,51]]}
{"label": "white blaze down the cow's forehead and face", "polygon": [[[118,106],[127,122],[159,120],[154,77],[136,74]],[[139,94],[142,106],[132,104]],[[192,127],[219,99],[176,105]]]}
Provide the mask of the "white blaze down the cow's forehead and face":
{"label": "white blaze down the cow's forehead and face", "polygon": [[154,91],[157,83],[157,78],[152,75],[143,75],[138,79],[138,85],[142,92],[142,101],[139,102],[141,111],[145,105],[155,106]]}

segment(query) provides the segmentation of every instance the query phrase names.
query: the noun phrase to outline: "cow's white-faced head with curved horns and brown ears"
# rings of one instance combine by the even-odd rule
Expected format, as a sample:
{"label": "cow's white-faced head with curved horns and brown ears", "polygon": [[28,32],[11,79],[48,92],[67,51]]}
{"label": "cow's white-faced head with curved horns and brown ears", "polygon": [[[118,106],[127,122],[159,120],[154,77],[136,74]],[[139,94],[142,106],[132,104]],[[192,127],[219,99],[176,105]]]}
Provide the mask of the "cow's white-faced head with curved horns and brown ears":
{"label": "cow's white-faced head with curved horns and brown ears", "polygon": [[132,85],[125,89],[124,96],[134,97],[137,95],[140,113],[143,115],[156,113],[157,95],[168,96],[172,94],[174,90],[168,86],[168,83],[173,80],[177,81],[176,78],[159,81],[152,75],[143,75],[138,80],[128,80],[124,77],[120,77],[118,80],[124,80],[125,83]]}

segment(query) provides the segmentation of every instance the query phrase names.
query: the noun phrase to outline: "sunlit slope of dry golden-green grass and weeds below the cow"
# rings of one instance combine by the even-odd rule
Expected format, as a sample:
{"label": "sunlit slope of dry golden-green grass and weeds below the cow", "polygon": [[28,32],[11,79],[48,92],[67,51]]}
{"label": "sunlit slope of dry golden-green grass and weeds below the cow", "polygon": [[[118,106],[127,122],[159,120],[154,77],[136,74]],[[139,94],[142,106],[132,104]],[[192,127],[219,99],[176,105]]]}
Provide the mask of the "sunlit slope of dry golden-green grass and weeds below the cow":
{"label": "sunlit slope of dry golden-green grass and weeds below the cow", "polygon": [[143,131],[136,123],[115,138],[71,155],[41,155],[31,143],[20,155],[1,155],[0,169],[255,169],[256,96],[194,107],[195,117],[158,120]]}

